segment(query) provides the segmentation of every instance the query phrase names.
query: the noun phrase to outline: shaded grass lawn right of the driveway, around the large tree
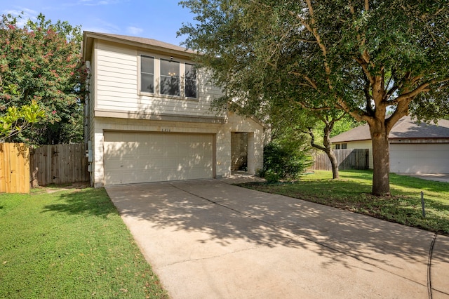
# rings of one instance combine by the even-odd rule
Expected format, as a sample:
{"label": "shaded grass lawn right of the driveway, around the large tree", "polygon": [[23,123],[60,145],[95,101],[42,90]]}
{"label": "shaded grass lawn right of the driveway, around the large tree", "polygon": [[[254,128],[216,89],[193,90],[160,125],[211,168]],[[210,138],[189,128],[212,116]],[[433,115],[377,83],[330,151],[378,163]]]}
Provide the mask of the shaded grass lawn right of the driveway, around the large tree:
{"label": "shaded grass lawn right of the driveway, around the large tree", "polygon": [[333,180],[330,171],[316,171],[293,183],[240,185],[449,235],[449,183],[391,173],[391,197],[374,197],[370,194],[372,180],[372,171],[340,171],[339,180]]}

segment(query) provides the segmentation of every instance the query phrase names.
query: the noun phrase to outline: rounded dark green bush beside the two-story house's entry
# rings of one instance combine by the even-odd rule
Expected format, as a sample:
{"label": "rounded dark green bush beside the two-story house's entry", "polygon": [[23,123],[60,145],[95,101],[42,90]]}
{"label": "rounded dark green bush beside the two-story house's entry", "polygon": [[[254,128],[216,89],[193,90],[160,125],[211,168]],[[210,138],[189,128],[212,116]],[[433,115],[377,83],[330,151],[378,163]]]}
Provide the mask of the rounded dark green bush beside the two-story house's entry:
{"label": "rounded dark green bush beside the two-story house's entry", "polygon": [[270,142],[264,147],[264,168],[260,176],[267,182],[295,179],[311,164],[307,152],[295,144]]}

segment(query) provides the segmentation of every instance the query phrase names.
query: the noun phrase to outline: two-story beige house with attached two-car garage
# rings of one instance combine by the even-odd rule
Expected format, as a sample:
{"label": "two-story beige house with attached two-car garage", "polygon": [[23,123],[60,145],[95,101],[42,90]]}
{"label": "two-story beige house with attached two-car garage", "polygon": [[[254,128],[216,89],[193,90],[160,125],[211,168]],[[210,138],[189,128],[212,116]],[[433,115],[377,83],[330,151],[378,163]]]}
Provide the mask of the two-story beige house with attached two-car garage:
{"label": "two-story beige house with attached two-car garage", "polygon": [[154,39],[84,32],[91,74],[85,136],[95,187],[262,168],[264,125],[213,112],[210,102],[222,93],[192,54]]}

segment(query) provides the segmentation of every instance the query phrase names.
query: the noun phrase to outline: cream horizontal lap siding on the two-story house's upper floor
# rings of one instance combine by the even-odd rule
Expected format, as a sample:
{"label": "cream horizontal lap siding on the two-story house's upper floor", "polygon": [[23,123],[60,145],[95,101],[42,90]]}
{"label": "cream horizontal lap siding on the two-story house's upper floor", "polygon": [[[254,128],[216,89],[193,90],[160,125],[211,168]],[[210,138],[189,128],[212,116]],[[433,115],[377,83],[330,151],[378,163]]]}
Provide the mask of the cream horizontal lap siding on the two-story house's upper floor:
{"label": "cream horizontal lap siding on the two-story house's upper floor", "polygon": [[[210,111],[210,102],[222,93],[220,88],[208,84],[208,74],[203,70],[198,74],[198,99],[140,94],[138,55],[141,53],[155,58],[165,58],[163,55],[142,52],[137,48],[97,41],[95,46],[97,109],[131,113],[215,116],[215,112]],[[181,62],[192,63],[187,60]],[[157,86],[156,81],[156,88]],[[126,117],[126,114],[123,117]]]}

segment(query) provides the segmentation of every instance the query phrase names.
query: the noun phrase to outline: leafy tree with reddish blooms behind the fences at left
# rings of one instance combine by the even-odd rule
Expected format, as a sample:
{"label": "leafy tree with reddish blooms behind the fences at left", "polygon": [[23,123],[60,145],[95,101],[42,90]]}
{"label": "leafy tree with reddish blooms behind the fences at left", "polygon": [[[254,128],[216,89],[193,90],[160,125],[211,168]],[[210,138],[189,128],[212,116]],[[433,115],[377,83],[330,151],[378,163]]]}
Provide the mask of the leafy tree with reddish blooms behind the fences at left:
{"label": "leafy tree with reddish blooms behind the fences at left", "polygon": [[44,114],[34,126],[23,127],[8,140],[31,144],[81,142],[86,72],[81,63],[80,27],[52,23],[39,14],[36,22],[28,20],[20,28],[18,18],[3,15],[0,39],[2,84],[16,86],[20,93],[13,96],[4,92],[0,116],[10,113],[10,108],[21,111],[20,107],[28,105],[38,105]]}

